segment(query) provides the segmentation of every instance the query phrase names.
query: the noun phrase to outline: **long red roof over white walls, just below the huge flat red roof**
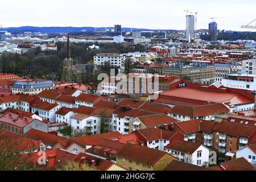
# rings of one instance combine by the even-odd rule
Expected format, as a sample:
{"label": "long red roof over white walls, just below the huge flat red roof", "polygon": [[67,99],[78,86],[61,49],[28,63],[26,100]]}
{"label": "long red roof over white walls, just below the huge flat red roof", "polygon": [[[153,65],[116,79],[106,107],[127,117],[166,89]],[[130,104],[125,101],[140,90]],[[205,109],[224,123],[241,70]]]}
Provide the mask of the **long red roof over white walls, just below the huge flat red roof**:
{"label": "long red roof over white walls, just below the huge flat red roof", "polygon": [[209,104],[201,106],[175,105],[169,113],[189,115],[192,117],[228,113],[230,110],[224,104]]}

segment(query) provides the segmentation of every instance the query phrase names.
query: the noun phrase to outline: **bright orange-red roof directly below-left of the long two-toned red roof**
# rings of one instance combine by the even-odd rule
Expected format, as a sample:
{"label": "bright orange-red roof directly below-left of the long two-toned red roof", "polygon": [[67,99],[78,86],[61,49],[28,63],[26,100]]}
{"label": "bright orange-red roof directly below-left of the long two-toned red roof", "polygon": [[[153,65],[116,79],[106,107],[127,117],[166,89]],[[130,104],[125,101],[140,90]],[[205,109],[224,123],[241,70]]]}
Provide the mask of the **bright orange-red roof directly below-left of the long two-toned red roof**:
{"label": "bright orange-red roof directly below-left of the long two-toned red roof", "polygon": [[164,125],[177,121],[177,119],[169,117],[166,114],[149,114],[137,118],[146,126]]}

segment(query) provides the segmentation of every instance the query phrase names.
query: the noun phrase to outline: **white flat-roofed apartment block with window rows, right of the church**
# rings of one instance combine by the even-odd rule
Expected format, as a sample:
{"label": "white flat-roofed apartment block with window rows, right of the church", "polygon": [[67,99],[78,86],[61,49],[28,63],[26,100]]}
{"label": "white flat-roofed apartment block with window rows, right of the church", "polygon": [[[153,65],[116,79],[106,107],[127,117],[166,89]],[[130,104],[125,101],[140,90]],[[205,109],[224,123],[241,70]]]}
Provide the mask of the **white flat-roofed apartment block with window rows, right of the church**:
{"label": "white flat-roofed apartment block with window rows, right of the church", "polygon": [[110,66],[124,69],[125,56],[118,53],[98,53],[93,57],[93,63],[96,65],[104,65],[106,62]]}

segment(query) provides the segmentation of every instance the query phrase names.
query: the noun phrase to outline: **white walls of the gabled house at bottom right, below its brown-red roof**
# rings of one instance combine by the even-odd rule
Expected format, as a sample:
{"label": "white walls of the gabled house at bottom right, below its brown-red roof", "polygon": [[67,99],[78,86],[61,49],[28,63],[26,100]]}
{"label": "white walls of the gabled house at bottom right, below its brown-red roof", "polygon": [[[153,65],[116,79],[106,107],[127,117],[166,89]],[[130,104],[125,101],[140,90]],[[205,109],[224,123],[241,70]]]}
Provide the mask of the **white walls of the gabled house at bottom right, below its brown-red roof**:
{"label": "white walls of the gabled house at bottom right, below its brown-red roof", "polygon": [[[188,159],[191,160],[189,163],[196,166],[203,166],[204,163],[209,163],[209,148],[203,146],[203,144],[197,148],[197,150],[193,151],[192,154],[186,154],[181,151],[175,151],[170,148],[164,148],[166,152],[171,155],[176,156],[182,162],[188,162]],[[191,151],[192,152],[192,151]]]}

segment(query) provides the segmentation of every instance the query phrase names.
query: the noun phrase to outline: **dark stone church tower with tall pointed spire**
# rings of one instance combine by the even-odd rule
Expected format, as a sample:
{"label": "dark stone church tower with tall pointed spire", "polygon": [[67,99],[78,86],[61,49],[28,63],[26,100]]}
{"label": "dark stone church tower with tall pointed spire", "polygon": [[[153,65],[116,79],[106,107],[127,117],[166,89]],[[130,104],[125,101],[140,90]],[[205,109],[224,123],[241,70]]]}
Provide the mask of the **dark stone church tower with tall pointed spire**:
{"label": "dark stone church tower with tall pointed spire", "polygon": [[67,57],[64,59],[63,63],[63,81],[72,82],[73,81],[73,59],[71,59],[70,53],[70,43],[69,43],[69,34],[67,42]]}

